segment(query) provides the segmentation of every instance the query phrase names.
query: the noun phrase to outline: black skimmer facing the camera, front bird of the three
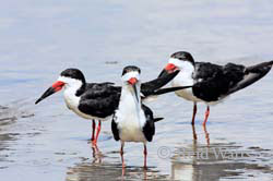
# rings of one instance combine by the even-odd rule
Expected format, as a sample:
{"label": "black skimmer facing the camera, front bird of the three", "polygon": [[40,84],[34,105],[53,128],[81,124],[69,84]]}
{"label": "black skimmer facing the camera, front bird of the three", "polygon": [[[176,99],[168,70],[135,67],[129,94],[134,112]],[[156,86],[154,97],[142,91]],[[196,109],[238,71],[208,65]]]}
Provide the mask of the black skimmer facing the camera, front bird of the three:
{"label": "black skimmer facing the camera, front bird of the three", "polygon": [[[129,65],[123,69],[120,101],[111,122],[114,138],[121,142],[120,155],[123,168],[124,142],[142,142],[144,144],[144,168],[146,168],[146,142],[153,140],[155,134],[154,123],[163,119],[154,118],[152,110],[142,104],[140,73],[138,67]],[[189,87],[191,86],[180,87],[179,89]],[[168,89],[168,92],[174,90]]]}

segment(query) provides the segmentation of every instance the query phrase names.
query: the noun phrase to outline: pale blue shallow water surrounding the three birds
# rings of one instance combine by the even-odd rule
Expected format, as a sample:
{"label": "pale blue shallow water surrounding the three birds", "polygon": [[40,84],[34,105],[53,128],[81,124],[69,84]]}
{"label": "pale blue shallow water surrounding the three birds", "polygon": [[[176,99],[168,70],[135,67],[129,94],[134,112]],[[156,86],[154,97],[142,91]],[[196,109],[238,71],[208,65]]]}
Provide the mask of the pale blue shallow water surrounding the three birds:
{"label": "pale blue shallow water surrounding the three birds", "polygon": [[[81,69],[90,82],[120,84],[124,65],[155,77],[170,53],[195,60],[253,64],[273,58],[271,1],[5,1],[0,11],[0,176],[3,180],[271,180],[272,72],[211,108],[202,128],[192,104],[174,94],[149,104],[165,120],[149,144],[119,143],[103,123],[99,154],[91,122],[70,112],[62,95],[34,101],[60,71]],[[195,132],[198,140],[194,141]],[[217,156],[224,153],[224,158]],[[242,153],[242,154],[241,154]],[[237,154],[237,157],[236,157]],[[240,154],[242,156],[240,156]],[[2,179],[1,179],[2,180]]]}

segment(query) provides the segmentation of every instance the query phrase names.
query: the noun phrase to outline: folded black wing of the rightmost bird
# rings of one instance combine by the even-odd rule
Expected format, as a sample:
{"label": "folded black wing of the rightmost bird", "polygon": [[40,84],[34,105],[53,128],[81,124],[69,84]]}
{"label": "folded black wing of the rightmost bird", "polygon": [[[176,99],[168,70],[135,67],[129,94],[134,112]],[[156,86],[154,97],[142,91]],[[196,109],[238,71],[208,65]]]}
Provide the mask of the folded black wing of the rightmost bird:
{"label": "folded black wing of the rightmost bird", "polygon": [[260,80],[271,70],[272,64],[270,61],[246,68],[234,63],[223,67],[199,63],[193,94],[205,101],[216,101]]}

